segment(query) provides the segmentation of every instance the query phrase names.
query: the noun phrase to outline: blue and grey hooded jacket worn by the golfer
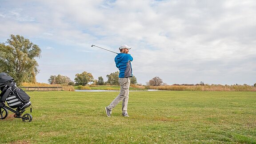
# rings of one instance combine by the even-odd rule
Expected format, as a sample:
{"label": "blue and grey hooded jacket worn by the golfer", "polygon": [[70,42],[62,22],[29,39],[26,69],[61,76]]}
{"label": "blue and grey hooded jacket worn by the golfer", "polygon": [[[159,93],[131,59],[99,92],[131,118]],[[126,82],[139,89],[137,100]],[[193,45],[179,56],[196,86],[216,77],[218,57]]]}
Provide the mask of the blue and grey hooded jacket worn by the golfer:
{"label": "blue and grey hooded jacket worn by the golfer", "polygon": [[118,53],[115,57],[116,68],[119,69],[119,77],[132,77],[132,64],[133,60],[130,54]]}

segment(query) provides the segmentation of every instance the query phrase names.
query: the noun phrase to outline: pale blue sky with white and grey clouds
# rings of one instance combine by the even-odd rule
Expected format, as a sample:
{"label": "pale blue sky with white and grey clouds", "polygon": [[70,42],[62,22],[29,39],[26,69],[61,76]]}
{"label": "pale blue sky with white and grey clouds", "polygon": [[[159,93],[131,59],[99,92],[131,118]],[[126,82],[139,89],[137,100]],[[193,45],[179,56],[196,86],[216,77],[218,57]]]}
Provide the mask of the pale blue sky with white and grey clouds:
{"label": "pale blue sky with white and grey clouds", "polygon": [[36,81],[118,71],[132,47],[139,84],[256,83],[255,0],[0,0],[0,42],[20,35],[41,48]]}

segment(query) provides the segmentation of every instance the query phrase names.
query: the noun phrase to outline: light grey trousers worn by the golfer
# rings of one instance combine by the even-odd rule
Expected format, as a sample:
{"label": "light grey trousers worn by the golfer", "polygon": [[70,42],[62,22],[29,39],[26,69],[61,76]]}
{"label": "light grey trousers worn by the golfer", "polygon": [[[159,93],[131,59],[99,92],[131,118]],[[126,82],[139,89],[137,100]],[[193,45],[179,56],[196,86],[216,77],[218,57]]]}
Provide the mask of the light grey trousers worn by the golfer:
{"label": "light grey trousers worn by the golfer", "polygon": [[129,87],[130,87],[130,78],[119,78],[120,84],[120,93],[116,98],[112,101],[111,104],[108,105],[108,109],[112,110],[116,105],[123,100],[122,104],[122,112],[127,112],[128,100],[129,100]]}

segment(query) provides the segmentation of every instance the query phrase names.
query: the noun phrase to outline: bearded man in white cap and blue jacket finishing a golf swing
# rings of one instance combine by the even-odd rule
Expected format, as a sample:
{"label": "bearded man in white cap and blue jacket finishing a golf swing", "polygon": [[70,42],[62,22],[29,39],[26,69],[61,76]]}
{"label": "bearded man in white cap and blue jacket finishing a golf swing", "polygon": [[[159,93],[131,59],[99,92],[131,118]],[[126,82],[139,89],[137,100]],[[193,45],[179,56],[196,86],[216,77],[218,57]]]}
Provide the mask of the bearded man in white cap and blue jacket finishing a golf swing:
{"label": "bearded man in white cap and blue jacket finishing a golf swing", "polygon": [[127,106],[129,99],[129,87],[130,87],[130,77],[132,77],[132,64],[133,60],[132,56],[128,54],[129,47],[126,44],[120,46],[120,53],[115,57],[116,68],[119,69],[119,84],[120,84],[120,93],[116,98],[110,103],[106,108],[107,116],[110,117],[112,113],[112,109],[116,107],[116,105],[123,101],[122,104],[122,116],[128,117]]}

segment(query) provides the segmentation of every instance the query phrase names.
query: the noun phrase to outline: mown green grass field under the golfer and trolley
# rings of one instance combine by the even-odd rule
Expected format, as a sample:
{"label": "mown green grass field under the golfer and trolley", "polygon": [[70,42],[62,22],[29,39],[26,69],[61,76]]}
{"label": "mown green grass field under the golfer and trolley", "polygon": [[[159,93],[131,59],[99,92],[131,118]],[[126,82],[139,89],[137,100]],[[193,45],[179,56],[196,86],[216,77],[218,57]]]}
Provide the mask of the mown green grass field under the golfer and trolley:
{"label": "mown green grass field under the golfer and trolley", "polygon": [[256,144],[255,92],[130,92],[130,117],[121,116],[121,104],[105,115],[118,92],[27,93],[32,122],[9,112],[1,144]]}

